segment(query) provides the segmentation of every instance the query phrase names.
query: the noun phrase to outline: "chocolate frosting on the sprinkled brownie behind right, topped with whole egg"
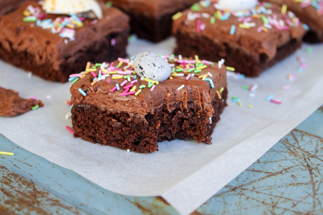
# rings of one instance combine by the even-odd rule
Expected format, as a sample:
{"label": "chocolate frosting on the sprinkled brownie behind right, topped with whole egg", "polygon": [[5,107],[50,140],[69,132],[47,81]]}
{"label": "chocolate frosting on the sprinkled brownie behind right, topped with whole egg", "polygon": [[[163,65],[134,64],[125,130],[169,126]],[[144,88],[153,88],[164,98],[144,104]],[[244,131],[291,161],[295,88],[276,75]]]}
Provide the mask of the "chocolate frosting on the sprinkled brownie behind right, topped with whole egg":
{"label": "chocolate frosting on the sprinkled brownie behind right, topped with whole egg", "polygon": [[[281,7],[273,5],[266,7],[273,10],[277,14],[278,20],[282,19]],[[191,32],[192,34],[202,34],[206,38],[220,40],[222,43],[230,44],[239,47],[248,55],[259,56],[264,54],[267,58],[266,61],[271,61],[276,56],[277,48],[286,44],[291,39],[301,40],[305,33],[305,29],[300,24],[299,27],[290,27],[289,30],[277,30],[274,26],[268,29],[267,32],[257,32],[258,27],[263,25],[260,18],[252,18],[251,23],[255,23],[255,27],[249,29],[240,28],[238,17],[230,16],[228,20],[216,20],[216,23],[211,24],[210,18],[201,17],[199,20],[201,24],[205,25],[205,29],[197,32],[197,20],[190,21],[187,19],[188,13],[207,13],[213,16],[218,10],[211,4],[208,8],[201,8],[200,11],[186,10],[183,16],[173,22],[173,33],[176,32]],[[233,35],[230,34],[231,26],[236,25],[236,30]],[[225,47],[223,48],[225,49]]]}

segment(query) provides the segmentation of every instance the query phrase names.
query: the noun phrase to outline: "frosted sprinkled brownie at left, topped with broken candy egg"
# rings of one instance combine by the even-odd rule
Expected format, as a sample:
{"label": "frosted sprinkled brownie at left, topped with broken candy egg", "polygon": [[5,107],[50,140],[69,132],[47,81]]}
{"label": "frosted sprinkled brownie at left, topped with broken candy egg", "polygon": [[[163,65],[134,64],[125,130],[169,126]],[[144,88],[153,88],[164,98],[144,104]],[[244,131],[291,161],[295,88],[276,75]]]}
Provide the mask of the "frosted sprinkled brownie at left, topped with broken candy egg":
{"label": "frosted sprinkled brownie at left, topped with broken candy egg", "polygon": [[[102,3],[102,19],[89,12],[72,20],[75,16],[47,14],[41,8],[26,2],[0,16],[0,59],[46,80],[66,82],[70,74],[82,70],[83,62],[126,56],[129,17],[119,9]],[[39,21],[29,11],[34,9],[39,10]]]}

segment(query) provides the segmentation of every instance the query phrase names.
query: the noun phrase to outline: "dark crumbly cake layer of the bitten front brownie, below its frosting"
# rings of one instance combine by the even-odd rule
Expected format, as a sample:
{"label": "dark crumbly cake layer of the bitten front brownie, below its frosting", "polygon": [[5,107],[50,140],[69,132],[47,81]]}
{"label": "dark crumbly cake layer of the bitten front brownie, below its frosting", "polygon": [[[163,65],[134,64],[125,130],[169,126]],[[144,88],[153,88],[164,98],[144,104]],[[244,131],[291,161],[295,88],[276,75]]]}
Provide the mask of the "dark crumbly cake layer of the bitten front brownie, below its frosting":
{"label": "dark crumbly cake layer of the bitten front brownie, below its frosting", "polygon": [[207,111],[194,102],[189,102],[187,109],[182,102],[176,103],[171,112],[164,105],[147,115],[110,111],[86,103],[74,104],[74,137],[139,153],[158,151],[158,142],[177,138],[211,144],[210,136],[227,105],[227,97],[225,88],[221,99],[217,95],[212,98],[211,123]]}

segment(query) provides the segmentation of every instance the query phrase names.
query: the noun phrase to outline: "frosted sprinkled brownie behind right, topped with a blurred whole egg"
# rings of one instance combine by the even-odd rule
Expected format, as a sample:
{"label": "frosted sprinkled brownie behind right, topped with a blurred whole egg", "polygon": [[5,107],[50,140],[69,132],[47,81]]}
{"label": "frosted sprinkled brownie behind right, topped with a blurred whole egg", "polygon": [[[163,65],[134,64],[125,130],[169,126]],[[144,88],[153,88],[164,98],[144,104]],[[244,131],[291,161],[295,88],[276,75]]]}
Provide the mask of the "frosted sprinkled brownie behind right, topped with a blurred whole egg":
{"label": "frosted sprinkled brownie behind right, topped with a blurred whole egg", "polygon": [[230,13],[217,4],[201,2],[174,21],[175,53],[216,62],[225,59],[237,72],[259,76],[302,44],[303,25],[281,11],[277,5],[263,3]]}

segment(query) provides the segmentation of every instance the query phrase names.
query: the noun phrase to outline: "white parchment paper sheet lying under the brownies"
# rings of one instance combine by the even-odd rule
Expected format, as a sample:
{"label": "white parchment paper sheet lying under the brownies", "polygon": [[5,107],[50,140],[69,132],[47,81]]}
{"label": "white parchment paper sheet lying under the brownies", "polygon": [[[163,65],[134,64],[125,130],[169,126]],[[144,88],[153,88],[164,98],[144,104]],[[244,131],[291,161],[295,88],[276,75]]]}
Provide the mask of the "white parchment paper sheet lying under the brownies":
{"label": "white parchment paper sheet lying under the brownies", "polygon": [[[158,44],[132,41],[128,53],[171,53],[175,40]],[[306,53],[305,48],[312,52]],[[70,83],[52,83],[0,61],[0,86],[21,97],[31,95],[45,106],[14,118],[0,117],[0,133],[51,162],[71,169],[103,188],[132,196],[162,196],[181,214],[189,214],[248,168],[277,141],[305,120],[323,103],[323,45],[303,47],[258,78],[228,77],[228,106],[214,129],[212,145],[175,140],[159,143],[149,154],[127,152],[74,139],[65,128],[71,120],[65,100]],[[309,65],[303,72],[297,57]],[[85,65],[84,65],[85,66]],[[295,80],[288,80],[289,74]],[[250,91],[242,85],[258,84]],[[282,87],[289,85],[290,90]],[[273,94],[282,104],[265,101]],[[46,98],[51,96],[51,98]],[[239,97],[242,105],[231,100]],[[252,105],[253,108],[248,108]]]}

